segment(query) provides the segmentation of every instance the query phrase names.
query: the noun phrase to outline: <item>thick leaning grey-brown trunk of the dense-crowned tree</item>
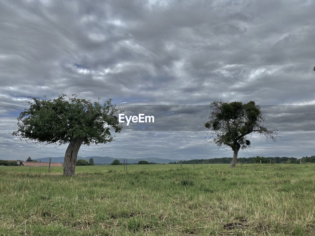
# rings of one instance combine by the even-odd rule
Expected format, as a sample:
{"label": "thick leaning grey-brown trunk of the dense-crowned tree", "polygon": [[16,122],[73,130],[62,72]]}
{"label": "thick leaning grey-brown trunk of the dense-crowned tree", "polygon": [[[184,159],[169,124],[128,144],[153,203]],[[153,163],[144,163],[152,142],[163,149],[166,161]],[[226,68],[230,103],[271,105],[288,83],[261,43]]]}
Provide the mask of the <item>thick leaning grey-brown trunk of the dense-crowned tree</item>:
{"label": "thick leaning grey-brown trunk of the dense-crowned tree", "polygon": [[74,176],[74,171],[77,165],[77,155],[81,144],[83,142],[83,138],[72,138],[67,147],[65,159],[63,161],[63,174]]}

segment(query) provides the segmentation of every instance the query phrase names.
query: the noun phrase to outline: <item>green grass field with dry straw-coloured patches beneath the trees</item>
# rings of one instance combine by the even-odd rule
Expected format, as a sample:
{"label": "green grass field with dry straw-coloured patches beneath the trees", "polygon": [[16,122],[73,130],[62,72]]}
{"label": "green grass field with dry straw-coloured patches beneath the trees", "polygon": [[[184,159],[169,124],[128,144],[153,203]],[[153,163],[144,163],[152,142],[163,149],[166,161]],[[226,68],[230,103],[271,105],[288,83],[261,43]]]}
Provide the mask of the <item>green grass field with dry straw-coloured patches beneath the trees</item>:
{"label": "green grass field with dry straw-coloured patches beneath the trees", "polygon": [[0,166],[0,235],[315,235],[315,165]]}

